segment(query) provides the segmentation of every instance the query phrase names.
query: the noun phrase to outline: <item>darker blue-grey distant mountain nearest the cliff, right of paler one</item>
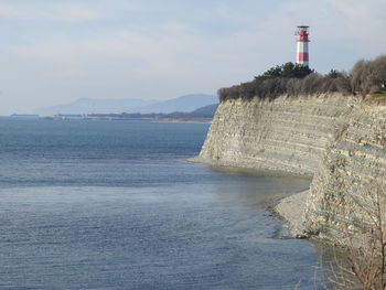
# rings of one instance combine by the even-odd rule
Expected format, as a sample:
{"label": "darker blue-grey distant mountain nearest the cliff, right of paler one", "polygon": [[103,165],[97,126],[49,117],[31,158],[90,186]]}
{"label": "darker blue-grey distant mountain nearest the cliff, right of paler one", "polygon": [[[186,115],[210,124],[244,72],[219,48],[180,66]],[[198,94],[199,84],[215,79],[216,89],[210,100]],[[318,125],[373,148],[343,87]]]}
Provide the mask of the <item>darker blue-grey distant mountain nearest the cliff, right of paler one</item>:
{"label": "darker blue-grey distant mountain nearest the cliff, right of paler one", "polygon": [[150,112],[173,112],[173,111],[193,111],[197,108],[217,104],[218,98],[215,95],[203,95],[203,94],[196,94],[196,95],[185,95],[182,97],[168,99],[163,101],[159,101],[149,106],[143,106],[141,108],[138,108],[136,112],[141,114],[150,114]]}

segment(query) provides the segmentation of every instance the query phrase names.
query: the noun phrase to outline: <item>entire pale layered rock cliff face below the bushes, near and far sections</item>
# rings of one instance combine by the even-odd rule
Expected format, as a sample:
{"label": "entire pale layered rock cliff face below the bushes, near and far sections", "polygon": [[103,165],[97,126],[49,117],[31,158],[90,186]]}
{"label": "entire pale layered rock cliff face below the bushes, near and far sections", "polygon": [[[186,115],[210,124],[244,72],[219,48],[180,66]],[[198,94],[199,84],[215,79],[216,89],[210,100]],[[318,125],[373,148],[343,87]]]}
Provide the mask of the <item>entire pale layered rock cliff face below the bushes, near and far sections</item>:
{"label": "entire pale layered rock cliff face below the bushes, near and far sections", "polygon": [[386,107],[340,95],[223,101],[199,160],[313,175],[303,230],[336,239],[371,223],[385,187]]}

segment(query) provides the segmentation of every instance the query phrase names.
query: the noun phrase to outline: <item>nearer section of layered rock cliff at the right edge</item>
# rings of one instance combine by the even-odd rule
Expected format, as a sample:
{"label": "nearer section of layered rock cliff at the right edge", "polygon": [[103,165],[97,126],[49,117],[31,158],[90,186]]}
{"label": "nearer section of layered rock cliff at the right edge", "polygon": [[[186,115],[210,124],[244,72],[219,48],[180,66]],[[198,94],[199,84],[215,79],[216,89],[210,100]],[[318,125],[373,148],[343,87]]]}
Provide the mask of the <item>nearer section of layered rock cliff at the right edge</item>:
{"label": "nearer section of layered rock cliff at the right edge", "polygon": [[307,230],[340,241],[374,225],[386,207],[386,107],[356,103],[341,120],[315,171],[307,202]]}

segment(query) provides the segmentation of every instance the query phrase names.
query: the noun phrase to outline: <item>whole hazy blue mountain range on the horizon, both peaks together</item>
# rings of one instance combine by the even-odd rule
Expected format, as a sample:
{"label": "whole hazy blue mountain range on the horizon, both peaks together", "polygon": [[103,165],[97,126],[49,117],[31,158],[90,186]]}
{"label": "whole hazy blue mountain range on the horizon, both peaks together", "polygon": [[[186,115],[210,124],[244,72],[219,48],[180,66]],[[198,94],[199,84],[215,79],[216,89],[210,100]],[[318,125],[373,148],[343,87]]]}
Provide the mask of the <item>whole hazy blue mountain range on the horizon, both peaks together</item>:
{"label": "whole hazy blue mountain range on the horizon, both peaks together", "polygon": [[121,114],[121,112],[173,112],[193,111],[197,108],[217,104],[214,95],[186,95],[168,100],[129,99],[94,99],[79,98],[73,103],[36,109],[41,116],[53,115],[89,115],[89,114]]}

